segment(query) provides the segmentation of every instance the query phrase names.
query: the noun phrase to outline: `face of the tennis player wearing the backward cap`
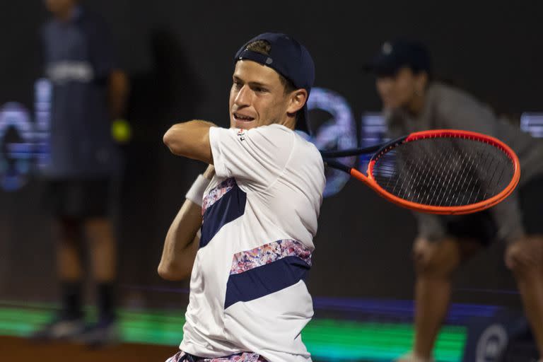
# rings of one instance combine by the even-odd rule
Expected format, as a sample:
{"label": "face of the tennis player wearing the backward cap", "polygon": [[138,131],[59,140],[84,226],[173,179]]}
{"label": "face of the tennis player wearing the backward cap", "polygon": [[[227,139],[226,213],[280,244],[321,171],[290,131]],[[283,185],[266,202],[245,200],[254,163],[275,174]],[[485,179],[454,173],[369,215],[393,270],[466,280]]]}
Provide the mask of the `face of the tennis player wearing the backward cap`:
{"label": "face of the tennis player wearing the backward cap", "polygon": [[251,129],[267,124],[284,124],[289,97],[279,74],[250,60],[235,64],[230,89],[230,127]]}

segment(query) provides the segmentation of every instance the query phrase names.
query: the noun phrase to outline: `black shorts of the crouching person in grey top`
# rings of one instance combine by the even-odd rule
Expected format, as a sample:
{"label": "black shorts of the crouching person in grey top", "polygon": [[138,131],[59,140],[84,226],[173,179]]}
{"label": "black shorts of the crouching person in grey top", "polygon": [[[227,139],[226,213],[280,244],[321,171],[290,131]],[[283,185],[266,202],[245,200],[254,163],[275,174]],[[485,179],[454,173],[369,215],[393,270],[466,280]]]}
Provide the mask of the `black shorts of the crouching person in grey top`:
{"label": "black shorts of the crouching person in grey top", "polygon": [[[528,235],[543,234],[543,175],[518,190],[522,224]],[[448,235],[477,239],[483,245],[497,240],[498,228],[489,210],[465,216],[444,217]]]}

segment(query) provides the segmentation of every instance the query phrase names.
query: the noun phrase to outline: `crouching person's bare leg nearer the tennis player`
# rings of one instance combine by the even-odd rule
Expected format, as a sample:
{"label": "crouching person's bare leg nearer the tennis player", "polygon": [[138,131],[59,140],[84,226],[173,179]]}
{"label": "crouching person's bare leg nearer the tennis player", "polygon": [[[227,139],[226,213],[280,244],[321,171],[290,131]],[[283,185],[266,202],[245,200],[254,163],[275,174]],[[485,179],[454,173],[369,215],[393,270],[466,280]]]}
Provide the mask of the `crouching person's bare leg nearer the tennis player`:
{"label": "crouching person's bare leg nearer the tennis player", "polygon": [[414,357],[429,360],[439,329],[447,315],[452,272],[462,261],[479,250],[479,244],[467,240],[415,240],[415,341]]}

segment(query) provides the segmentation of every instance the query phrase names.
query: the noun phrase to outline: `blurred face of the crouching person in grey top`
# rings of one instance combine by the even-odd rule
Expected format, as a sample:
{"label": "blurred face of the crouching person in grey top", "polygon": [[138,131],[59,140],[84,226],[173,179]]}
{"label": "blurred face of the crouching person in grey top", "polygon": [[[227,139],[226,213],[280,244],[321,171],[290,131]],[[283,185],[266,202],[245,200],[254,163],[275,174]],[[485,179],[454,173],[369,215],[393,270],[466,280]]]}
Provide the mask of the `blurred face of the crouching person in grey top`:
{"label": "blurred face of the crouching person in grey top", "polygon": [[421,74],[414,74],[411,69],[399,69],[394,76],[377,78],[377,91],[385,109],[406,107],[417,93],[424,92]]}

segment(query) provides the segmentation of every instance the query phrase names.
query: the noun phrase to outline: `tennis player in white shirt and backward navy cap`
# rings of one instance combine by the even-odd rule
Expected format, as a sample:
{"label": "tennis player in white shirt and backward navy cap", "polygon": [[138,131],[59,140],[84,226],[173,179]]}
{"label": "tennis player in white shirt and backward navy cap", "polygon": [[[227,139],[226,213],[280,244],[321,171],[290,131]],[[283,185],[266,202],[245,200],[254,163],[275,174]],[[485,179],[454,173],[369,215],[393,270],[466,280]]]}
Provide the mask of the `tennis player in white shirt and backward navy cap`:
{"label": "tennis player in white shirt and backward navy cap", "polygon": [[158,274],[191,276],[180,351],[168,361],[311,361],[301,331],[325,187],[307,126],[313,59],[288,35],[264,33],[234,57],[230,129],[175,124],[170,151],[208,163],[165,238]]}

